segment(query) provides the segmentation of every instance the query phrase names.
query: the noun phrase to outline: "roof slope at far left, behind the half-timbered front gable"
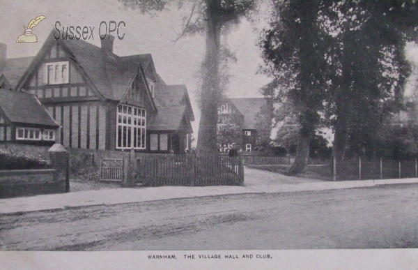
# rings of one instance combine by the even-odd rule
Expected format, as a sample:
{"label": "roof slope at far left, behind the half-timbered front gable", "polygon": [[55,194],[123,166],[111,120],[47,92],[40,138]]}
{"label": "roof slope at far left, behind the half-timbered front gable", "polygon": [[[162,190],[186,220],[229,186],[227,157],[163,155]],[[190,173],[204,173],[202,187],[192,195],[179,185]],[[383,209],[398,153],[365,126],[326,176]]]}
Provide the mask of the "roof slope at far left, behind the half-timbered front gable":
{"label": "roof slope at far left, behind the half-timbered front gable", "polygon": [[[0,76],[3,76],[10,87],[15,89],[20,78],[29,67],[35,57],[18,57],[6,59],[6,66],[0,70]],[[9,90],[9,89],[8,89]]]}

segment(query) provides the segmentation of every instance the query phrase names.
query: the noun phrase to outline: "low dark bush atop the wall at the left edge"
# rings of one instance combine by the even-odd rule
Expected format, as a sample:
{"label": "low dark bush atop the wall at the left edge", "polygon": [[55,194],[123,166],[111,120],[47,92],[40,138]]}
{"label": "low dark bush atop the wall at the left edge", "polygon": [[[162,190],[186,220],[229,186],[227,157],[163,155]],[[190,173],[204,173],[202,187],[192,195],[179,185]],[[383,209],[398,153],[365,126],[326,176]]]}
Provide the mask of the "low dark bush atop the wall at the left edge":
{"label": "low dark bush atop the wall at the left edge", "polygon": [[0,170],[31,170],[51,168],[51,161],[29,153],[15,153],[11,149],[0,149]]}

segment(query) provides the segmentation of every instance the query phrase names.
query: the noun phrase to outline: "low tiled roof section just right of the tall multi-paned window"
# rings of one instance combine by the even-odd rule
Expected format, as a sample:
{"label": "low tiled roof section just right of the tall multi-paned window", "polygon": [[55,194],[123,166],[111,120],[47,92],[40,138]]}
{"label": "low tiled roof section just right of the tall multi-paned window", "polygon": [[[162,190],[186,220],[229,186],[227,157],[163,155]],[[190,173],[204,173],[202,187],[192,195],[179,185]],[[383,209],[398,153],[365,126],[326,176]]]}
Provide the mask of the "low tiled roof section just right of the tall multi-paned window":
{"label": "low tiled roof section just right of the tall multi-paned window", "polygon": [[186,106],[158,107],[158,114],[150,121],[150,130],[178,130]]}

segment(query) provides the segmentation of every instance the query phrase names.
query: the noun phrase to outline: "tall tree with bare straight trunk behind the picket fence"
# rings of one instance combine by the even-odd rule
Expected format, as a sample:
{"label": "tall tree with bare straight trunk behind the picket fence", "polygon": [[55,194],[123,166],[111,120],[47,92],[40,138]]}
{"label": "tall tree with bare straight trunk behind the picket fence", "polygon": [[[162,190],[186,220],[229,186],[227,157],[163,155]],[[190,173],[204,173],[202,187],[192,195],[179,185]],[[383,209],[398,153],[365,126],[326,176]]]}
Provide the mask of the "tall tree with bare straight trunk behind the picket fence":
{"label": "tall tree with bare straight trunk behind the picket fence", "polygon": [[[122,0],[130,8],[143,13],[162,11],[173,1],[169,0]],[[219,64],[221,61],[221,34],[255,7],[256,0],[178,0],[179,8],[190,6],[190,15],[183,18],[182,36],[206,33],[206,54],[201,66],[202,88],[200,94],[201,119],[196,152],[198,155],[217,151],[217,107],[222,99]]]}

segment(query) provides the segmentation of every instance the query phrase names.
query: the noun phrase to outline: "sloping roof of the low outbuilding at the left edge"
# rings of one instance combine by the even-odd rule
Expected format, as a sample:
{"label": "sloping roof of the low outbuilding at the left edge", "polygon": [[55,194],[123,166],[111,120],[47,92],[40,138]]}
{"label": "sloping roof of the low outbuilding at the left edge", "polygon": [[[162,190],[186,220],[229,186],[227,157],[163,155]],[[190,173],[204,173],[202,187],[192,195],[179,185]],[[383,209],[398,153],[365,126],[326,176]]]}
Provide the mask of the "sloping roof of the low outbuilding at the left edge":
{"label": "sloping roof of the low outbuilding at the left edge", "polygon": [[0,89],[0,110],[12,123],[59,127],[38,98],[30,93]]}

